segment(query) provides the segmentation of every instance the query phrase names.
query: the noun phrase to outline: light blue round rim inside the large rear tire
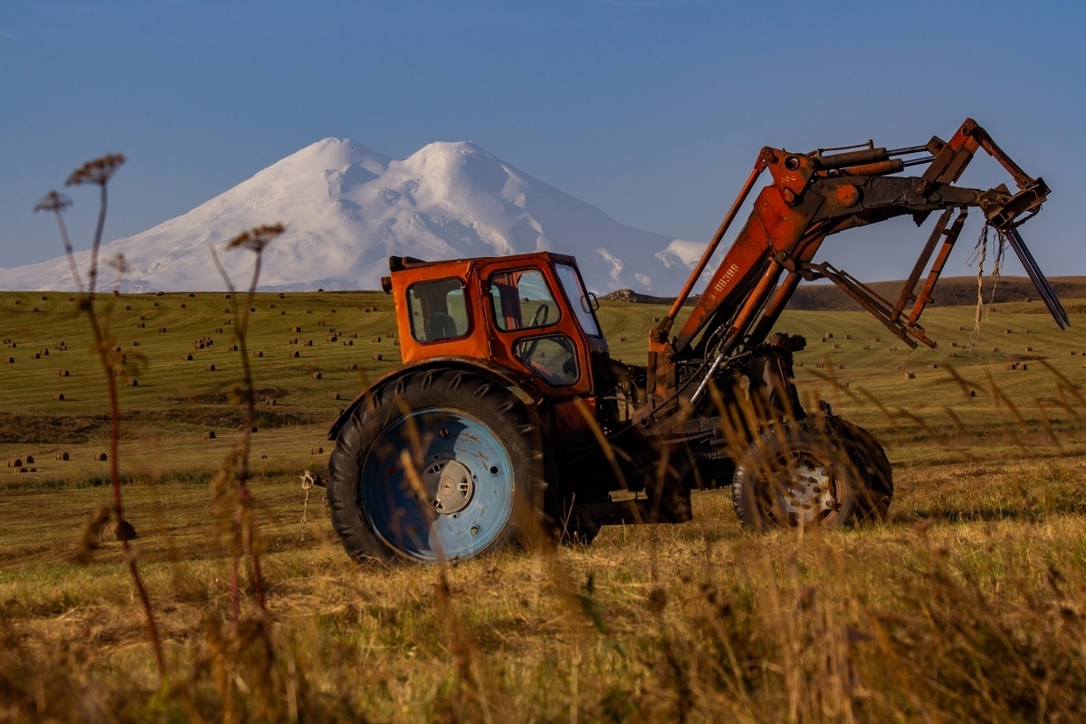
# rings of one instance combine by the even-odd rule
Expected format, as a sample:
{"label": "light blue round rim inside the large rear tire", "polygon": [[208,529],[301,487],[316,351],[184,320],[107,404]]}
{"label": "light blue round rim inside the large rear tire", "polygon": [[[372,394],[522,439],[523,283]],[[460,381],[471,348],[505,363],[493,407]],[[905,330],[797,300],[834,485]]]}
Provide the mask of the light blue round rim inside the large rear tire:
{"label": "light blue round rim inside the large rear tire", "polygon": [[[403,452],[416,463],[414,475]],[[369,524],[389,547],[435,562],[477,556],[502,536],[516,481],[509,453],[488,424],[433,407],[377,435],[362,466],[361,494]]]}

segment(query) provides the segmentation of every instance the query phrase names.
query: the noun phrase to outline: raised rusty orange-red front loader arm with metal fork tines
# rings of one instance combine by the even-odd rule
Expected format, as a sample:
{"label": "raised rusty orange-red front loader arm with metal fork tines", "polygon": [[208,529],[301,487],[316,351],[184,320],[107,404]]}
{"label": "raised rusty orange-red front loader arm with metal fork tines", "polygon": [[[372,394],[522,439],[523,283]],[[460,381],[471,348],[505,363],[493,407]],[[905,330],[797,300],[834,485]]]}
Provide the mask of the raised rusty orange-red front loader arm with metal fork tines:
{"label": "raised rusty orange-red front loader arm with metal fork tines", "polygon": [[[973,154],[982,149],[1011,174],[1018,187],[1015,193],[1002,185],[987,190],[954,186]],[[900,157],[922,152],[931,155],[910,161]],[[922,176],[889,175],[923,163],[929,166]],[[770,172],[772,183],[759,192],[749,218],[714,270],[690,316],[674,338],[669,339],[675,316],[755,180],[765,170]],[[980,208],[987,223],[1011,243],[1057,323],[1064,327],[1066,313],[1018,231],[1023,221],[1037,213],[1048,191],[1043,179],[1026,175],[972,119],[967,119],[949,142],[933,138],[926,145],[896,151],[864,148],[823,155],[821,151],[801,154],[763,149],[691,279],[668,316],[651,333],[648,389],[655,402],[651,407],[658,410],[685,389],[683,385],[681,390],[679,384],[680,363],[703,360],[702,373],[696,376],[700,378],[696,397],[721,360],[741,345],[749,350],[761,343],[800,279],[831,279],[908,344],[915,346],[920,341],[934,346],[917,322],[932,299],[971,207]],[[896,302],[879,297],[829,264],[813,263],[822,241],[832,233],[902,215],[913,216],[919,225],[934,211],[942,215]],[[918,294],[917,283],[936,247],[938,254]],[[910,302],[913,304],[907,313]]]}

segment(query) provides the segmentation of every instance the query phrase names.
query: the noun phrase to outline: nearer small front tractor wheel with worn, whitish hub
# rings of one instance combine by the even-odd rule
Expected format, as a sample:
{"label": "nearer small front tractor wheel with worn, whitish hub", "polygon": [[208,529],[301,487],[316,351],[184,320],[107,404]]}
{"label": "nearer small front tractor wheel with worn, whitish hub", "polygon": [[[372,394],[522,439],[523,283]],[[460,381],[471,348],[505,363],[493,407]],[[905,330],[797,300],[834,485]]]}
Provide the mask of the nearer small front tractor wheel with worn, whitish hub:
{"label": "nearer small front tractor wheel with worn, whitish hub", "polygon": [[853,522],[862,480],[844,441],[812,418],[763,433],[740,458],[732,504],[757,531]]}

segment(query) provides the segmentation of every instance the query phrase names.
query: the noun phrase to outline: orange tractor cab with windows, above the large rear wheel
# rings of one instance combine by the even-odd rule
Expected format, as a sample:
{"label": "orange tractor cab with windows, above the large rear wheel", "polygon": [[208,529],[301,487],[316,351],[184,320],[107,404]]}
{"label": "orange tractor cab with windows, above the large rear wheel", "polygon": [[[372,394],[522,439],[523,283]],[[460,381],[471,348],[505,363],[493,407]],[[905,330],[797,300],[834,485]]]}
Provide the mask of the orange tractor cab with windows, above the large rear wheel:
{"label": "orange tractor cab with windows, above the large rear wheel", "polygon": [[405,364],[468,357],[530,378],[548,396],[593,390],[593,355],[608,356],[607,342],[573,257],[393,256],[389,268],[381,283],[395,304]]}

